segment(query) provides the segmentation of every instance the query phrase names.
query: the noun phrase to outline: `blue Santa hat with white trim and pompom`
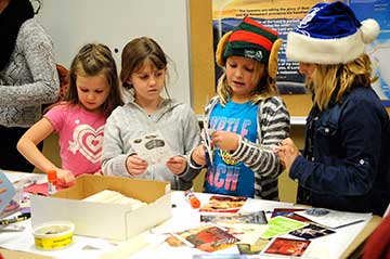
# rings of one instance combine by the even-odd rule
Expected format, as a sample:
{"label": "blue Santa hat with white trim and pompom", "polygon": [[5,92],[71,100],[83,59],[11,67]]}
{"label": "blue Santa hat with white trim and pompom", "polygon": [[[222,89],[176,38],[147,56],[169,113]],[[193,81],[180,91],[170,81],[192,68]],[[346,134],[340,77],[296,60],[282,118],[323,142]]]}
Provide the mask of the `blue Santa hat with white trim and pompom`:
{"label": "blue Santa hat with white trim and pompom", "polygon": [[288,34],[286,55],[304,63],[346,64],[362,55],[378,35],[375,20],[361,23],[347,4],[321,2]]}

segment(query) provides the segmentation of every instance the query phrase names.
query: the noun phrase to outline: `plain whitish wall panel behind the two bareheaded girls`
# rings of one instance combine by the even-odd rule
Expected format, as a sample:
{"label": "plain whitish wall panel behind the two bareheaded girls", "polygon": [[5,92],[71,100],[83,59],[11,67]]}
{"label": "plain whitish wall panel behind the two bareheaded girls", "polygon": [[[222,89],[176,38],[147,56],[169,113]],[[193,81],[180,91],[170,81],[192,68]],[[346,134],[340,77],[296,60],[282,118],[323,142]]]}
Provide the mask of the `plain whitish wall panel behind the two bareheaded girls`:
{"label": "plain whitish wall panel behind the two bareheaded girls", "polygon": [[53,38],[57,63],[67,68],[83,44],[96,41],[112,49],[120,68],[127,42],[154,38],[173,62],[170,95],[192,102],[188,0],[44,1],[37,17]]}

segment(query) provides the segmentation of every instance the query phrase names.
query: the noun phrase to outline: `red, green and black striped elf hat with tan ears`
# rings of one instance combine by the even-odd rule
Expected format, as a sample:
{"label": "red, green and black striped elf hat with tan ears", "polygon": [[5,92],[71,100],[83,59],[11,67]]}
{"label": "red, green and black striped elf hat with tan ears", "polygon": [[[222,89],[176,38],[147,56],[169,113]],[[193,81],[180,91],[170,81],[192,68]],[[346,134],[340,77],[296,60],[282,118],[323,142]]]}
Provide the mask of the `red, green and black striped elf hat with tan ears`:
{"label": "red, green and black striped elf hat with tan ears", "polygon": [[224,67],[229,56],[244,56],[268,65],[269,75],[275,78],[281,46],[282,40],[277,38],[276,30],[245,17],[219,41],[216,51],[217,64]]}

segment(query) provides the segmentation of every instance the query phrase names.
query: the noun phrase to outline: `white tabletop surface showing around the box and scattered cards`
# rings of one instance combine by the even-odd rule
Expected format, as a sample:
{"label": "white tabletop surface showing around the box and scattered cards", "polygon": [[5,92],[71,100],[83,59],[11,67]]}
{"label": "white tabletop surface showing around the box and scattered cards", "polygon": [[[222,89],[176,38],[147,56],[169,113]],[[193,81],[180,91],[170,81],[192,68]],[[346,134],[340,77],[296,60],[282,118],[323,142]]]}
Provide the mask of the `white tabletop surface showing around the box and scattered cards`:
{"label": "white tabletop surface showing around the box and scattered cards", "polygon": [[[200,199],[202,204],[206,203],[210,194],[196,193],[197,197]],[[5,258],[50,258],[51,256],[65,256],[69,258],[75,256],[81,256],[82,258],[180,258],[180,259],[191,259],[193,254],[202,254],[199,250],[190,247],[181,248],[171,248],[166,244],[162,244],[161,236],[158,233],[169,232],[174,230],[180,230],[181,228],[187,226],[191,228],[192,224],[196,224],[199,218],[199,212],[196,209],[192,209],[190,205],[184,199],[182,192],[172,192],[172,204],[176,205],[172,208],[172,218],[166,221],[164,224],[153,229],[153,232],[143,233],[134,238],[119,243],[117,246],[113,246],[108,241],[90,238],[82,236],[75,236],[74,244],[65,249],[58,251],[48,251],[42,252],[37,250],[34,247],[34,238],[30,233],[30,229],[22,233],[2,233],[0,235],[0,251],[5,256]],[[270,200],[261,199],[251,199],[244,206],[243,209],[246,210],[259,210],[264,211],[272,210],[275,207],[292,207],[292,204],[288,203],[276,203]],[[316,245],[313,246],[313,254],[318,256],[317,258],[350,258],[353,257],[355,252],[359,252],[364,244],[365,239],[373,230],[380,223],[381,218],[374,216],[366,222],[358,223],[354,225],[346,226],[340,229],[337,234],[334,236],[320,237],[316,241]],[[25,222],[28,224],[29,222]],[[10,238],[20,238],[18,242],[22,242],[23,247],[15,247],[15,245],[10,246],[5,244],[6,239]],[[21,243],[21,244],[22,244]],[[95,246],[102,247],[102,252],[89,252],[82,251],[83,254],[78,254],[78,250],[75,249],[80,244],[93,244]],[[314,243],[312,243],[314,244]],[[17,246],[17,245],[16,245]],[[12,247],[12,248],[10,248]],[[80,246],[81,247],[81,246]],[[9,249],[4,249],[9,248]],[[22,252],[15,250],[29,251]],[[81,252],[81,249],[80,249]],[[219,251],[219,252],[237,252],[237,248],[234,246],[232,248]],[[39,256],[35,255],[39,254]],[[87,256],[88,254],[88,256]],[[131,255],[132,254],[132,255]],[[261,256],[261,258],[266,258]],[[275,257],[270,257],[275,258]]]}

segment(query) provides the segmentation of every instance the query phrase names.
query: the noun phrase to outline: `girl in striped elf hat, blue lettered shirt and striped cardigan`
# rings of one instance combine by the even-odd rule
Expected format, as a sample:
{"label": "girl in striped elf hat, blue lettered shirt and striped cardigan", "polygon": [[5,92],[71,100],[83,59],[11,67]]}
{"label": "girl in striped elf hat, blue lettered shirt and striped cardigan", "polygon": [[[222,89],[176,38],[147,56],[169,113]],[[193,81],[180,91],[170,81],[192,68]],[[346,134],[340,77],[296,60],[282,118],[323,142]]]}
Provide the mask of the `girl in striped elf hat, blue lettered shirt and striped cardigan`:
{"label": "girl in striped elf hat, blue lettered shirt and striped cardigan", "polygon": [[206,154],[199,145],[192,153],[193,166],[207,165],[205,192],[278,199],[283,168],[273,147],[289,131],[275,83],[281,44],[275,30],[249,17],[220,40],[216,57],[225,72],[204,125],[213,148]]}

